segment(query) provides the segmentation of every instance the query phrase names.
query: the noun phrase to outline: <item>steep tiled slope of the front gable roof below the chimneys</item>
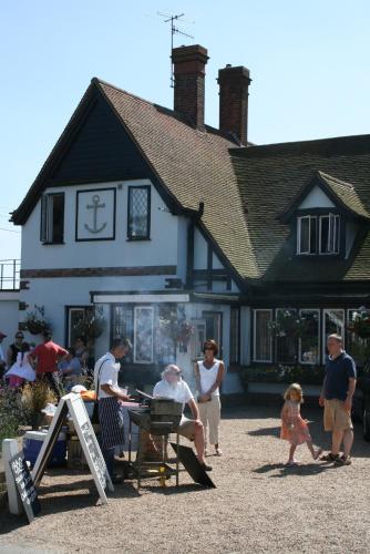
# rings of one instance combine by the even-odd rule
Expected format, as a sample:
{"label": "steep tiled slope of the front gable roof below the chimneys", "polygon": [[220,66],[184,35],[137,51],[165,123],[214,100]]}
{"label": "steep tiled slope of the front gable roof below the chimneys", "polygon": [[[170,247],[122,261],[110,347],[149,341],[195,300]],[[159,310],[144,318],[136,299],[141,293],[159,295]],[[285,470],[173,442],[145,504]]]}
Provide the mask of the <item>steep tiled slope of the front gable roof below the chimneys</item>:
{"label": "steep tiled slope of the front gable roof below the chimneys", "polygon": [[249,230],[228,148],[235,143],[210,127],[194,129],[171,110],[96,81],[161,181],[186,208],[197,209],[206,230],[236,271],[256,278]]}

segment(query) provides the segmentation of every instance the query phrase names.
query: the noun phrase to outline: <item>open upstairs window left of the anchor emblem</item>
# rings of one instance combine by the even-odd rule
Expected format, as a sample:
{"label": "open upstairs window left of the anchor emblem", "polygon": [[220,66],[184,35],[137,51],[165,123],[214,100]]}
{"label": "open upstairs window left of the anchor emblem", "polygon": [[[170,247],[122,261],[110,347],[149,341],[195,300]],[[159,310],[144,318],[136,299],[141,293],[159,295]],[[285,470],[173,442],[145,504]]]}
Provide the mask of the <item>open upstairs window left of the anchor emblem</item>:
{"label": "open upstairs window left of the anchor emblem", "polygon": [[63,243],[64,193],[44,194],[42,196],[40,238],[45,244]]}

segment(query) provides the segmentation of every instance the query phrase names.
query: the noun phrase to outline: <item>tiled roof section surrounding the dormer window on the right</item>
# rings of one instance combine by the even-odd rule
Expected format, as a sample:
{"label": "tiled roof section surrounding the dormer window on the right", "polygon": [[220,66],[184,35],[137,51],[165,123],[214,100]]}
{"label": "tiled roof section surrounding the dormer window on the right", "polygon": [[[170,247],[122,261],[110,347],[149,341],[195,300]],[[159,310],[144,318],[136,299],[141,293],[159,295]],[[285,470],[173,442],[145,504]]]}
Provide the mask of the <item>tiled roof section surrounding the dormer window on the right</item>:
{"label": "tiled roof section surrounding the dormer window on the right", "polygon": [[[250,242],[263,280],[369,279],[370,136],[251,146],[230,151]],[[290,225],[279,219],[316,172],[351,212],[358,240],[347,260],[295,256]],[[333,176],[333,177],[332,177]]]}

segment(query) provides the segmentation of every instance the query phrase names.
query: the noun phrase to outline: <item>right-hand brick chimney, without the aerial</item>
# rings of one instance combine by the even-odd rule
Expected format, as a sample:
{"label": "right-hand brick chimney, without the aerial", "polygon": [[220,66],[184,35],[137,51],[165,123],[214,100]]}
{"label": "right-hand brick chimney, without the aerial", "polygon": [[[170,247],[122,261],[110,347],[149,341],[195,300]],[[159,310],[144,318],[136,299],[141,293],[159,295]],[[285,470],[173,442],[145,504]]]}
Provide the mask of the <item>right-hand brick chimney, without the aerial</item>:
{"label": "right-hand brick chimney, without the aerial", "polygon": [[248,86],[251,82],[249,70],[239,65],[218,71],[219,84],[219,130],[233,133],[246,145],[248,138]]}

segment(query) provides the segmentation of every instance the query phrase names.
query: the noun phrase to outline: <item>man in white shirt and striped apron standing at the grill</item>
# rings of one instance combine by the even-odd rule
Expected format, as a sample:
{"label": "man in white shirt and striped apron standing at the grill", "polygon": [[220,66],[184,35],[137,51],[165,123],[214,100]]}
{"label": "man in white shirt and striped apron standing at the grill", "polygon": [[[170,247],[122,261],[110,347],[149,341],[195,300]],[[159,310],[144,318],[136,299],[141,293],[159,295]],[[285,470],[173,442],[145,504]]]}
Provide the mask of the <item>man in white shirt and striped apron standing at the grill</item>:
{"label": "man in white shirt and striped apron standing at the grill", "polygon": [[114,339],[109,352],[100,358],[94,368],[94,382],[99,401],[99,421],[101,425],[101,448],[106,469],[113,483],[122,478],[113,474],[115,447],[124,443],[123,401],[131,400],[119,387],[120,360],[131,348],[129,339]]}

